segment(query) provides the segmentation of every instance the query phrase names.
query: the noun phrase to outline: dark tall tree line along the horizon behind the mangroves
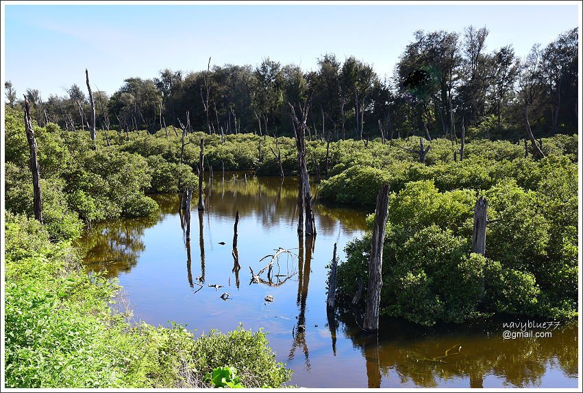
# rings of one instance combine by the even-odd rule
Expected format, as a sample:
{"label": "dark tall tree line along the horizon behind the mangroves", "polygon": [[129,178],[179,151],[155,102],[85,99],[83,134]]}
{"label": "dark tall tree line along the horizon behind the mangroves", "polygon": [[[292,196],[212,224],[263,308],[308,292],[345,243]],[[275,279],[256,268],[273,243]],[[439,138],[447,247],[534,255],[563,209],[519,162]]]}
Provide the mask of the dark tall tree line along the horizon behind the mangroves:
{"label": "dark tall tree line along the horizon behind the mangroves", "polygon": [[[127,78],[112,95],[95,86],[92,99],[103,130],[148,130],[188,124],[209,134],[293,135],[288,103],[310,101],[309,140],[408,137],[454,139],[462,128],[488,139],[516,139],[576,132],[578,29],[521,59],[512,45],[488,52],[488,29],[462,34],[414,32],[393,75],[381,78],[371,64],[332,53],[315,71],[265,58],[257,67],[225,64],[184,73],[164,69],[158,78]],[[10,106],[22,105],[10,81]],[[90,129],[88,96],[73,84],[66,95],[29,88],[25,97],[40,126]],[[188,118],[187,118],[188,117]],[[525,130],[525,127],[528,130]]]}

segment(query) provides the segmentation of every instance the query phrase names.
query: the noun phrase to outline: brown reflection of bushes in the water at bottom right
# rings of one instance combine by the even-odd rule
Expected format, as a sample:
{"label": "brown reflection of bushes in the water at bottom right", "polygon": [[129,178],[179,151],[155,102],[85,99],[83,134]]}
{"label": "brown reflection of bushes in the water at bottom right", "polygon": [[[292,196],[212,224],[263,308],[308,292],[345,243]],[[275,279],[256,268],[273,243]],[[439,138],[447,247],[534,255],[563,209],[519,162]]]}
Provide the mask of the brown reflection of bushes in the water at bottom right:
{"label": "brown reflection of bushes in the water at bottom right", "polygon": [[[529,388],[540,386],[545,374],[554,374],[557,380],[559,376],[576,378],[578,372],[576,323],[553,331],[552,337],[505,340],[502,322],[517,320],[516,316],[440,329],[383,318],[378,335],[364,334],[353,322],[353,313],[345,312],[341,319],[345,336],[366,359],[369,388],[381,386],[381,375],[399,378],[383,386],[437,388],[444,381],[457,380],[467,381],[456,383],[462,388],[484,388],[484,381],[488,381],[486,387]],[[458,354],[435,359],[457,344],[461,346]],[[499,382],[492,383],[491,377]]]}

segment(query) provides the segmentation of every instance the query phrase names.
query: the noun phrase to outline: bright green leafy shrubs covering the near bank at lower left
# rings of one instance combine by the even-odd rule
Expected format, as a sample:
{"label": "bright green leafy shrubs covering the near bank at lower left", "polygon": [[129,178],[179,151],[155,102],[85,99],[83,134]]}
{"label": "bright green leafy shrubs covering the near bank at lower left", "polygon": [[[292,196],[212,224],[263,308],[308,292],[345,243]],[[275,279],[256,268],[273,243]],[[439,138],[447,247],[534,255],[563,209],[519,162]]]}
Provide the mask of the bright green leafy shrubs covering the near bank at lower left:
{"label": "bright green leafy shrubs covering the near bank at lower left", "polygon": [[110,308],[118,285],[87,275],[71,243],[51,243],[34,219],[6,214],[5,266],[9,388],[205,388],[204,372],[225,361],[241,370],[245,386],[290,379],[260,332],[193,340],[177,325],[130,325]]}

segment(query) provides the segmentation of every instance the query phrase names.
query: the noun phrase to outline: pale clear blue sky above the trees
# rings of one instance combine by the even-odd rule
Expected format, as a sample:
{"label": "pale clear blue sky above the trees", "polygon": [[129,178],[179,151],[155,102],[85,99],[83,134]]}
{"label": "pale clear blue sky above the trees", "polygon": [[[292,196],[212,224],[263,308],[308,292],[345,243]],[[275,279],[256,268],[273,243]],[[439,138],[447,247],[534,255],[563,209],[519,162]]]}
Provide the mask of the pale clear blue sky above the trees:
{"label": "pale clear blue sky above the trees", "polygon": [[18,97],[64,95],[73,83],[116,91],[125,78],[164,68],[253,64],[269,56],[316,69],[323,53],[391,75],[418,29],[487,27],[486,50],[525,56],[578,26],[577,5],[5,5],[5,78]]}

